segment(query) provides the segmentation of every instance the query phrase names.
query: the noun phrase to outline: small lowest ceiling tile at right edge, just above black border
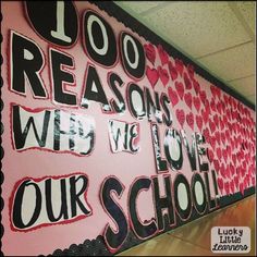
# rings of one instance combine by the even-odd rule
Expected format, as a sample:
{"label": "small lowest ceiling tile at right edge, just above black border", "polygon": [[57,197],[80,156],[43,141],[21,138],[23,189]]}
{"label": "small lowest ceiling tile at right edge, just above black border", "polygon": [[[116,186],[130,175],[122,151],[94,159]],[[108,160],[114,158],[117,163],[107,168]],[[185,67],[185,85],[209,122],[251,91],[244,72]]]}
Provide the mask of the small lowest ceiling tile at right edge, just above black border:
{"label": "small lowest ceiling tile at right edge, just above black border", "polygon": [[249,76],[229,83],[232,88],[247,97],[255,94],[255,76]]}

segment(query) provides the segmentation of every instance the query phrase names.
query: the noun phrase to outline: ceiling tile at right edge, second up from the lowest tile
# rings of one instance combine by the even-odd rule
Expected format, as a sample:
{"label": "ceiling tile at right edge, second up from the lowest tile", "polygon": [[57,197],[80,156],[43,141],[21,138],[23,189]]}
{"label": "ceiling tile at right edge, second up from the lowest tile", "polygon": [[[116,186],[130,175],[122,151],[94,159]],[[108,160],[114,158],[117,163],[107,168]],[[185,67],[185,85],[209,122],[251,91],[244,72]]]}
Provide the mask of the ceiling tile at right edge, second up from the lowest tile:
{"label": "ceiling tile at right edge, second up from the lowest tile", "polygon": [[197,61],[224,81],[246,77],[255,74],[255,46],[248,42]]}

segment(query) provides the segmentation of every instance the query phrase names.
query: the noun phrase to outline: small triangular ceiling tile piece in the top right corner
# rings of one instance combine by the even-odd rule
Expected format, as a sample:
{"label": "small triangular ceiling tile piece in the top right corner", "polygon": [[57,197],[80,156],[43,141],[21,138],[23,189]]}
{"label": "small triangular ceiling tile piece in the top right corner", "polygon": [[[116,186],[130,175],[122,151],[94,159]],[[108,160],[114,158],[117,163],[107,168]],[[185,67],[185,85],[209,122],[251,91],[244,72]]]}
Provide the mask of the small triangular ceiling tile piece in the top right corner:
{"label": "small triangular ceiling tile piece in the top right corner", "polygon": [[255,1],[240,1],[234,2],[234,4],[236,4],[253,33],[255,33]]}

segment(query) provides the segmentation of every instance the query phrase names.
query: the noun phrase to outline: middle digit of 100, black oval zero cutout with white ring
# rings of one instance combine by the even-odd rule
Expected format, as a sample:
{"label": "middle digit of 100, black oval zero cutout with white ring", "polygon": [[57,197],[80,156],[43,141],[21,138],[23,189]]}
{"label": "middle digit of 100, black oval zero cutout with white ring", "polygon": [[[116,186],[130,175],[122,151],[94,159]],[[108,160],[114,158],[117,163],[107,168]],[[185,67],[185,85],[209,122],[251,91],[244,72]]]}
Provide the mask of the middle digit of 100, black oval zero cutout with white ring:
{"label": "middle digit of 100, black oval zero cutout with white ring", "polygon": [[83,17],[83,45],[88,56],[107,68],[117,61],[117,41],[111,26],[97,13],[86,11]]}

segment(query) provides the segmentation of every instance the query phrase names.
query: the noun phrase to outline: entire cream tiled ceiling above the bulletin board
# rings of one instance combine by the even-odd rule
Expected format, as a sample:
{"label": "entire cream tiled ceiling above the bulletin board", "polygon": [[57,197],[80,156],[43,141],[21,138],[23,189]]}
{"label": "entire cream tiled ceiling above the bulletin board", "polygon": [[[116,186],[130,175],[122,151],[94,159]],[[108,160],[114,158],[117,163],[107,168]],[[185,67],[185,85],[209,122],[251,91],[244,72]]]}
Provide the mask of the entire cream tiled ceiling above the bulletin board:
{"label": "entire cream tiled ceiling above the bulletin board", "polygon": [[255,105],[255,1],[114,1]]}

